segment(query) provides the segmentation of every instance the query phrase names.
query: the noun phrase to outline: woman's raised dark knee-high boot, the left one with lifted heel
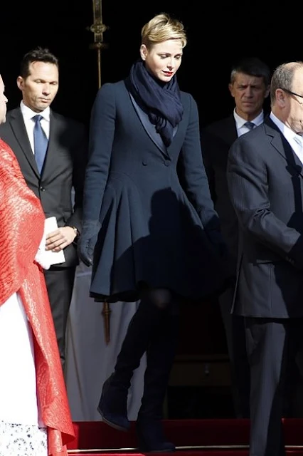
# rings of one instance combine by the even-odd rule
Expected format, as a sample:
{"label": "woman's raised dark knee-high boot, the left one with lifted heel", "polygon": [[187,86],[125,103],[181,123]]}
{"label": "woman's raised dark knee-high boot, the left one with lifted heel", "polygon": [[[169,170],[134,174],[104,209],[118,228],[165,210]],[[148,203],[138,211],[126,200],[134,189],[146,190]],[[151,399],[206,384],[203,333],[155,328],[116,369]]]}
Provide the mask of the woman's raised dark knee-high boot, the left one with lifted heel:
{"label": "woman's raised dark knee-high boot, the left one with lifted heel", "polygon": [[117,356],[115,371],[105,380],[97,410],[108,425],[118,430],[128,430],[127,395],[132,374],[139,367],[141,358],[161,322],[163,311],[147,299],[142,299],[132,317],[122,348]]}

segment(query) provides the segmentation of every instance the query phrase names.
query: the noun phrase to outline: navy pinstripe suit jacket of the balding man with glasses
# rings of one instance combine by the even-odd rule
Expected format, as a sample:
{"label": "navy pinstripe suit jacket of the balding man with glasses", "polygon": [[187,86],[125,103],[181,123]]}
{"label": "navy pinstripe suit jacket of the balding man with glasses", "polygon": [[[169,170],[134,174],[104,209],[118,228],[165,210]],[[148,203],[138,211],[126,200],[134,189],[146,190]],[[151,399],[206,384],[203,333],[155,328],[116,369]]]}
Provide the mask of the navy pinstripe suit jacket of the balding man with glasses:
{"label": "navy pinstripe suit jacket of the balding man with glasses", "polygon": [[302,163],[270,118],[235,140],[227,178],[240,222],[235,313],[303,316]]}

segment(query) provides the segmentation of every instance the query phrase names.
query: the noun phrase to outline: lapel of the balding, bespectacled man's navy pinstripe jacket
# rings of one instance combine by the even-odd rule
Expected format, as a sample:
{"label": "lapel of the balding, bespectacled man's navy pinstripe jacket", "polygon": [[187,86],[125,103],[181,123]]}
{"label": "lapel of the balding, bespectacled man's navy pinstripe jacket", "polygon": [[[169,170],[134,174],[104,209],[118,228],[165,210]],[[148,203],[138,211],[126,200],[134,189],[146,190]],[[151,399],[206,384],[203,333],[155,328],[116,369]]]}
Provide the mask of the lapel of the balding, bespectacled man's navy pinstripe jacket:
{"label": "lapel of the balding, bespectacled man's navy pinstripe jacket", "polygon": [[265,132],[267,135],[272,137],[271,144],[277,152],[282,155],[283,158],[287,161],[289,165],[289,170],[292,170],[292,174],[300,175],[303,178],[303,165],[299,160],[299,157],[292,150],[292,147],[289,145],[289,142],[285,139],[285,136],[282,135],[277,125],[272,122],[270,118],[266,118],[264,121]]}

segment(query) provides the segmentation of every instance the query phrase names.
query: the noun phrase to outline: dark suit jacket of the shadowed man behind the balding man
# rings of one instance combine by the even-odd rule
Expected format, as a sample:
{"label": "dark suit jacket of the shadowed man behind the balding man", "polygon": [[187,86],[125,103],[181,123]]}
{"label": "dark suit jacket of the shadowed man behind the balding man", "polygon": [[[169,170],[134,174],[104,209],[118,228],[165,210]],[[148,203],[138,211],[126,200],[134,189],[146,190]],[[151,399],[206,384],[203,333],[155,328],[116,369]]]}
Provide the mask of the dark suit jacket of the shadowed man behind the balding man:
{"label": "dark suit jacket of the shadowed man behind the balding man", "polygon": [[201,130],[203,162],[211,197],[220,217],[221,231],[230,253],[230,267],[234,272],[238,252],[238,219],[228,194],[226,169],[228,150],[237,138],[233,115],[211,123]]}

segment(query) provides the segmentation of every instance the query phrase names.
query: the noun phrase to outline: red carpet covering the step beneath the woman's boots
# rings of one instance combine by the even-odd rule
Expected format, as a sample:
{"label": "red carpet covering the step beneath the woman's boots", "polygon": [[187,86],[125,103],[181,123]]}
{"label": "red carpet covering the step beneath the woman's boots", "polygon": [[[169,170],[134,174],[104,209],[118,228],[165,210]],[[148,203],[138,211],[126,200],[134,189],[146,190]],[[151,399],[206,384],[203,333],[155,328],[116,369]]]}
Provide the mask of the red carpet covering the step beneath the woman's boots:
{"label": "red carpet covering the step beneath the woman's boots", "polygon": [[[287,456],[303,456],[303,419],[284,420],[283,426]],[[74,427],[76,437],[68,447],[70,456],[140,454],[134,423],[129,432],[96,421],[77,422]],[[248,420],[166,420],[164,427],[178,456],[248,456]]]}

